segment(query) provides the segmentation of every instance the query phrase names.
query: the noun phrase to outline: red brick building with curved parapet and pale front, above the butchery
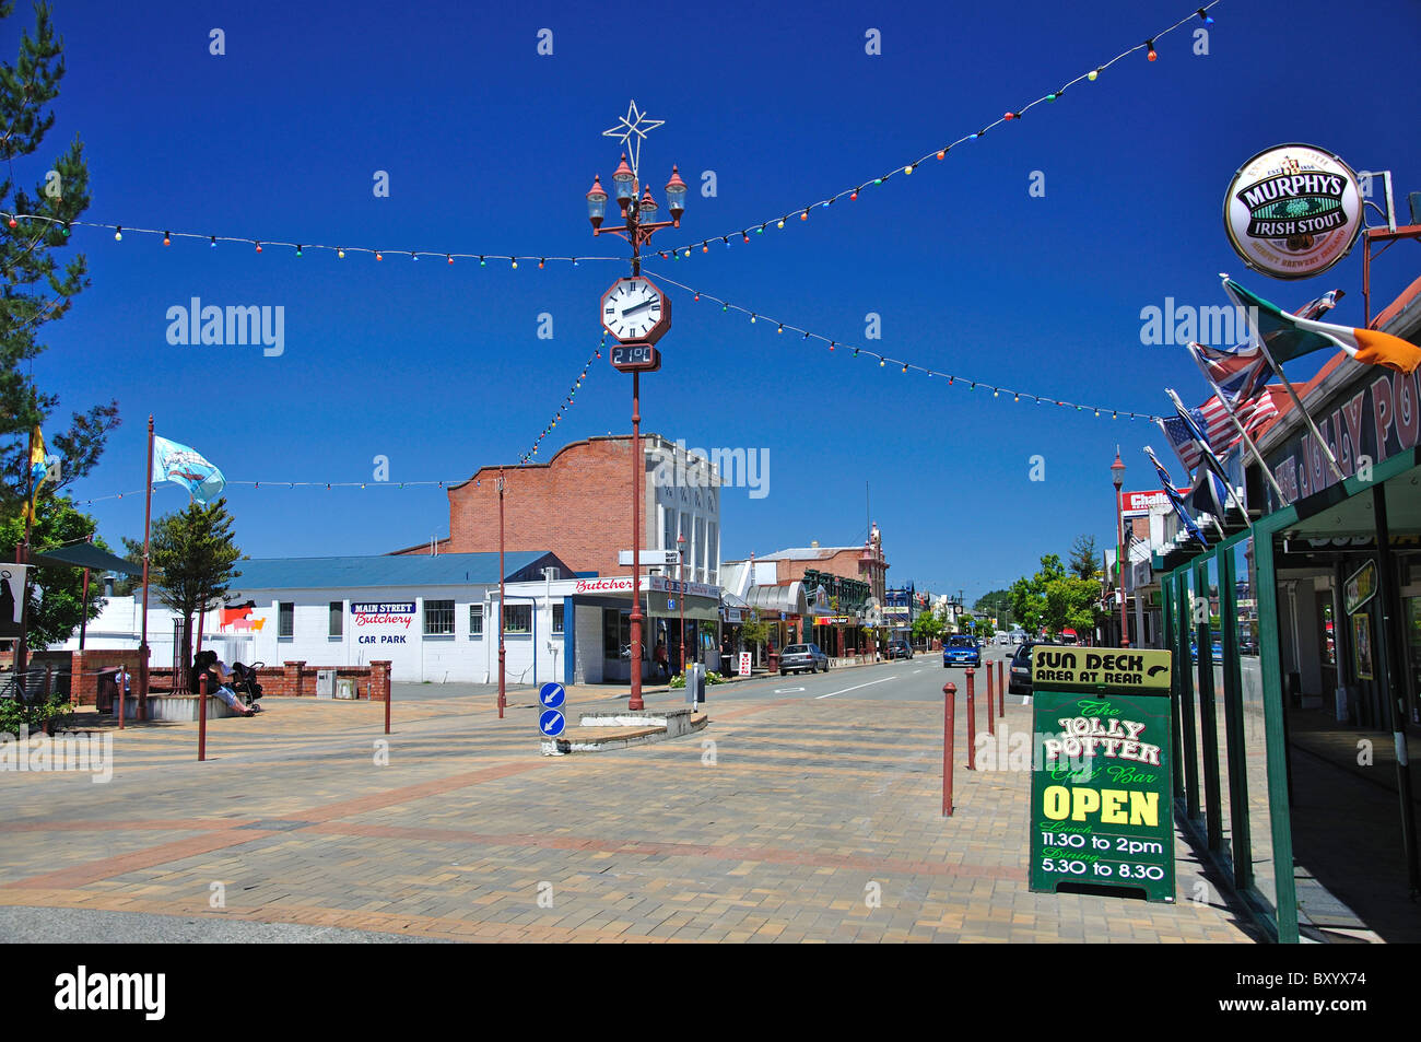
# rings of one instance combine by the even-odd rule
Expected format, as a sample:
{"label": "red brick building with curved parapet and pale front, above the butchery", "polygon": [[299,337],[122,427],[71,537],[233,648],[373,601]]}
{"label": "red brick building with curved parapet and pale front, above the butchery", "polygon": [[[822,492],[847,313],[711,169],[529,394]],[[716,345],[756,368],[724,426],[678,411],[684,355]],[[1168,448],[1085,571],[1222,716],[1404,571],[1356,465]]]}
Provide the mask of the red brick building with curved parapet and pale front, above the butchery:
{"label": "red brick building with curved parapet and pale front, above the butchery", "polygon": [[[686,537],[686,580],[719,584],[719,472],[661,435],[642,435],[642,549],[676,549]],[[395,553],[486,553],[499,549],[499,469],[480,468],[449,488],[449,536]],[[570,569],[630,574],[618,550],[631,547],[631,436],[564,445],[546,463],[506,466],[504,549],[547,550]],[[647,566],[642,564],[645,569]],[[674,570],[666,574],[676,577]]]}

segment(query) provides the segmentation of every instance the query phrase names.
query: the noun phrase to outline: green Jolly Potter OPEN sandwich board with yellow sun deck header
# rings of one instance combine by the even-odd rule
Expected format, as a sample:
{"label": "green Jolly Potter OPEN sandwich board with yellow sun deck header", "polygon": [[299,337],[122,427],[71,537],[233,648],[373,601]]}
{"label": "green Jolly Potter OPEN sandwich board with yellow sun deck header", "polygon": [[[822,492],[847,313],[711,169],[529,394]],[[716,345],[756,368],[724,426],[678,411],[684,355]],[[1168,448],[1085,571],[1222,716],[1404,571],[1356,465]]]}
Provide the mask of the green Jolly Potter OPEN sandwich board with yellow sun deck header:
{"label": "green Jolly Potter OPEN sandwich board with yellow sun deck header", "polygon": [[1174,901],[1169,671],[1168,651],[1034,648],[1032,890]]}

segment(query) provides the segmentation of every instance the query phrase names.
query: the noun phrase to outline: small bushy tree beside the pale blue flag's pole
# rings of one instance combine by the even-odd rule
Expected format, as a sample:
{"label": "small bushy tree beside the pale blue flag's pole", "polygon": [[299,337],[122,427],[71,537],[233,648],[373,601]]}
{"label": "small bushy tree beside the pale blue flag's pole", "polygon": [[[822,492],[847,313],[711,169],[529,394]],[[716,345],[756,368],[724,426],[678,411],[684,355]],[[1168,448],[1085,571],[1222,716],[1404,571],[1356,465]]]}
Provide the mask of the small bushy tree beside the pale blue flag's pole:
{"label": "small bushy tree beside the pale blue flag's pole", "polygon": [[149,543],[149,583],[163,604],[183,620],[183,647],[179,661],[192,662],[192,620],[219,603],[240,576],[242,559],[232,532],[227,500],[202,505],[192,502],[186,510],[169,513],[153,522]]}

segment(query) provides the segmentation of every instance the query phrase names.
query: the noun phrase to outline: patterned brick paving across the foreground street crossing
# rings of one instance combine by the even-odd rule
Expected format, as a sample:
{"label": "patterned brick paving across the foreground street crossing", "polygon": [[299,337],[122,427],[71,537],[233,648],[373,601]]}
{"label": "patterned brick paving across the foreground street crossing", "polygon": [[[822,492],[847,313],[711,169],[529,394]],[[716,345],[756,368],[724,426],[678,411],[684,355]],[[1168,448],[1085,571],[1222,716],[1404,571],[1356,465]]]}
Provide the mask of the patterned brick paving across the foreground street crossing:
{"label": "patterned brick paving across the foreground street crossing", "polygon": [[195,724],[90,716],[109,783],[0,772],[0,906],[465,941],[1259,940],[1178,839],[1174,906],[1030,893],[1030,775],[965,770],[959,714],[942,819],[941,704],[742,698],[566,758],[533,707],[401,701],[387,739],[382,705],[264,705],[210,722],[206,763]]}

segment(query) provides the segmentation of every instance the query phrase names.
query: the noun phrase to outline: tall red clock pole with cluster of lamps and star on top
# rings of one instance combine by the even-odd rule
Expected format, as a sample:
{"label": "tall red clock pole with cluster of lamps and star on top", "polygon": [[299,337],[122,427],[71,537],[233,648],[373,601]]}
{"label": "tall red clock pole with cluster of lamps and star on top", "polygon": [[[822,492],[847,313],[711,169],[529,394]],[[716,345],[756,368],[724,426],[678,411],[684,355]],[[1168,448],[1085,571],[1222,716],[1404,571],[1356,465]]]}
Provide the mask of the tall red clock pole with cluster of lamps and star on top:
{"label": "tall red clock pole with cluster of lamps and star on top", "polygon": [[[641,158],[641,141],[647,136],[647,131],[654,129],[661,125],[659,119],[647,119],[645,114],[637,109],[637,102],[632,101],[631,107],[627,109],[627,117],[622,118],[617,127],[605,131],[603,136],[620,138],[622,146],[625,148],[631,144],[632,161],[631,165],[627,163],[627,154],[622,152],[621,163],[612,173],[612,185],[617,192],[617,205],[622,212],[622,226],[621,227],[603,227],[603,219],[607,213],[607,190],[603,188],[601,178],[593,179],[593,188],[587,193],[587,219],[593,225],[593,235],[601,235],[608,232],[612,235],[620,235],[622,239],[631,243],[631,274],[632,279],[641,277],[641,247],[644,243],[651,242],[651,236],[664,227],[681,227],[681,215],[686,209],[686,182],[681,179],[681,173],[675,166],[671,168],[671,181],[666,182],[666,203],[671,209],[671,220],[657,220],[657,202],[651,198],[651,186],[645,186],[645,190],[638,198],[638,190],[642,186],[638,183],[637,166]],[[614,287],[615,289],[615,287]],[[651,347],[661,338],[661,335],[671,326],[671,301],[665,300],[661,308],[661,317],[657,318],[654,327],[647,330],[642,337],[632,337],[627,330],[627,323],[622,323],[622,330],[618,333],[607,321],[607,313],[612,310],[608,306],[608,291],[603,297],[603,326],[612,335],[615,335],[624,344],[628,341],[635,341],[641,347]],[[655,313],[655,311],[654,311]],[[615,351],[612,353],[615,358]],[[647,353],[647,360],[652,362],[649,367],[644,368],[654,370],[661,362],[657,360],[655,348]],[[618,365],[618,368],[622,368]],[[630,365],[628,365],[630,368]],[[642,613],[641,613],[641,507],[642,507],[642,478],[645,476],[647,463],[641,455],[641,371],[639,368],[631,370],[631,698],[628,699],[628,709],[644,709],[645,704],[641,698],[641,647],[642,647]]]}

